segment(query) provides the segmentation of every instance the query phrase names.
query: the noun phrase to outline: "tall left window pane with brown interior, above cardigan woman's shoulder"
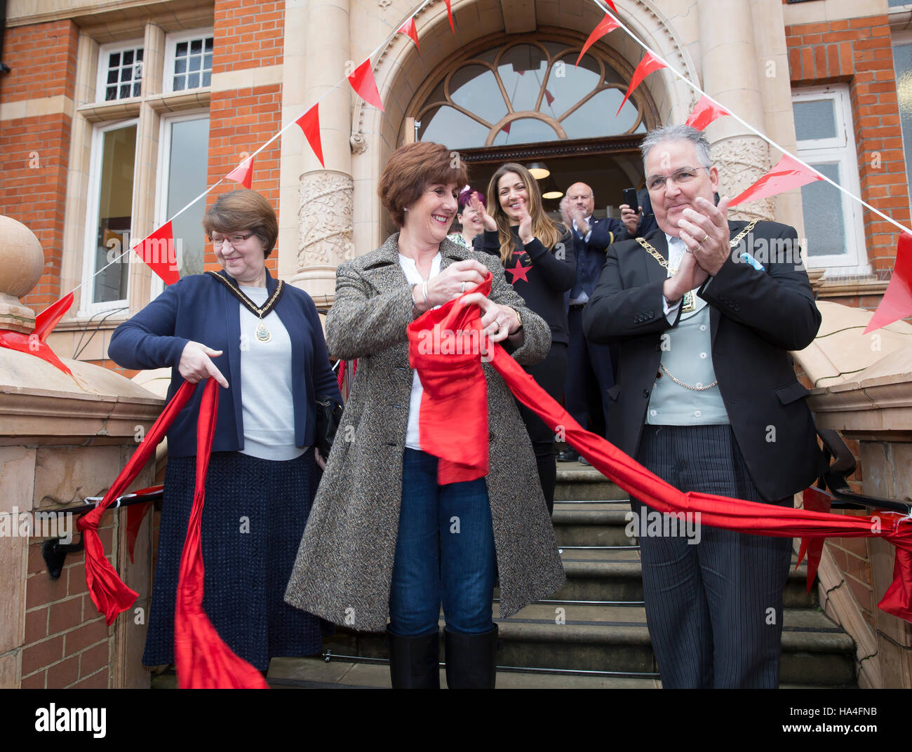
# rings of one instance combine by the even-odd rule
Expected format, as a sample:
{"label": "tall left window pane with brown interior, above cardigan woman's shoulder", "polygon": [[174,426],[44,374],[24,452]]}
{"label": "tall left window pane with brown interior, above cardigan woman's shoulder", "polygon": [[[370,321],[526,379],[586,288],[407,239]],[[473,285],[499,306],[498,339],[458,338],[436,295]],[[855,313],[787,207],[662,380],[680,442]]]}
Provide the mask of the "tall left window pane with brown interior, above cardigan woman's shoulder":
{"label": "tall left window pane with brown interior, above cardigan woman's shoulder", "polygon": [[[98,271],[130,246],[133,200],[133,163],[136,159],[136,126],[107,131],[102,137],[98,175],[95,269]],[[130,253],[95,277],[92,302],[125,300]]]}

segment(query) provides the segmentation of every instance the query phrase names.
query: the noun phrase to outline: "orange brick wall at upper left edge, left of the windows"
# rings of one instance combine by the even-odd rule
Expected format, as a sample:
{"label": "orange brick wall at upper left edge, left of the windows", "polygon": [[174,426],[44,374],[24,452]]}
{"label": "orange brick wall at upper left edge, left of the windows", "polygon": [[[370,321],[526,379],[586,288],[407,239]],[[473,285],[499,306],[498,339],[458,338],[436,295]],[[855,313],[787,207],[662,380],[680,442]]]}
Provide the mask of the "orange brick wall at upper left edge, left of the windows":
{"label": "orange brick wall at upper left edge, left of the windows", "polygon": [[[6,29],[0,105],[73,97],[78,30],[70,21]],[[59,296],[71,120],[66,115],[5,120],[0,128],[0,214],[35,232],[45,270],[23,302],[42,310]]]}

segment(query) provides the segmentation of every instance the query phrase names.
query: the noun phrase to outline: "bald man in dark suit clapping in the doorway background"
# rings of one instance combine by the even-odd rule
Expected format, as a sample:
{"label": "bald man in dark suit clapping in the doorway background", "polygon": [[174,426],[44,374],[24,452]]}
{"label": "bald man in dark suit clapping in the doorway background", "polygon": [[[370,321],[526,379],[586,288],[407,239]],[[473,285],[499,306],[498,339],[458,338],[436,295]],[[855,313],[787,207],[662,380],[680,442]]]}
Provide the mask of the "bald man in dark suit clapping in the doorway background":
{"label": "bald man in dark suit clapping in the doorway background", "polygon": [[[582,426],[592,420],[592,429],[602,436],[607,426],[607,390],[615,384],[611,350],[614,345],[592,345],[583,336],[583,308],[593,294],[602,267],[605,252],[614,242],[618,232],[625,227],[616,219],[596,220],[592,216],[596,200],[586,183],[574,183],[561,201],[561,216],[573,232],[576,253],[576,280],[565,295],[570,342],[567,345],[567,376],[564,382],[564,400],[567,412]],[[596,412],[597,411],[597,412]],[[574,448],[566,448],[557,455],[559,462],[573,462],[580,458]]]}

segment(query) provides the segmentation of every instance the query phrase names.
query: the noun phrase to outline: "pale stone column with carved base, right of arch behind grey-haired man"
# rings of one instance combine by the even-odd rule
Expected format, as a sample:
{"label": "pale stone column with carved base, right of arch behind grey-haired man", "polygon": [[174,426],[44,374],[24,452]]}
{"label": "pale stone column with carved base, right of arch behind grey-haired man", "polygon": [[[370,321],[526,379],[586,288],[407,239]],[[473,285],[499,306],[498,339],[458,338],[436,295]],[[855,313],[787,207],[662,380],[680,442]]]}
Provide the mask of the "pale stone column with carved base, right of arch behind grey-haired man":
{"label": "pale stone column with carved base, right of arch behind grey-haired man", "polygon": [[[699,0],[703,89],[759,131],[763,97],[747,0]],[[724,19],[724,28],[720,27]],[[770,169],[769,147],[734,118],[707,129],[719,168],[720,194],[734,197]],[[751,201],[730,212],[731,219],[772,219],[772,201]]]}

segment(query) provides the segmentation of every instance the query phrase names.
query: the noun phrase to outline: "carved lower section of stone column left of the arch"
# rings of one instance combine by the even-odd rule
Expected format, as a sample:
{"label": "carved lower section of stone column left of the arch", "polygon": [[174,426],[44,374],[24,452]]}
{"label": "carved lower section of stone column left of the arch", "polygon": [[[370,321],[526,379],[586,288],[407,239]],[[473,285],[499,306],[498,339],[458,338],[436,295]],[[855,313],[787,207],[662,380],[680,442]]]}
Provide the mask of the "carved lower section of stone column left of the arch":
{"label": "carved lower section of stone column left of the arch", "polygon": [[314,170],[301,176],[295,282],[317,305],[332,304],[336,267],[354,256],[352,204],[355,184],[345,172]]}

